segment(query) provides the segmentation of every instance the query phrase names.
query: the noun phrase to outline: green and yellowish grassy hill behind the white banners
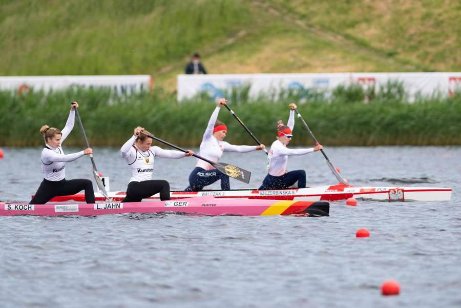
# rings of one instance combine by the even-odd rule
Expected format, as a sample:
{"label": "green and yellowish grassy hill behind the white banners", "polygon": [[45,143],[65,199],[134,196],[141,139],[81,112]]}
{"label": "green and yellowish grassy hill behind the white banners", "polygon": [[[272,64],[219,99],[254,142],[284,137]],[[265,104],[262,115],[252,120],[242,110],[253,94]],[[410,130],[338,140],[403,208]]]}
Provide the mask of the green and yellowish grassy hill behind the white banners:
{"label": "green and yellowish grassy hill behind the white banners", "polygon": [[461,71],[461,4],[433,1],[0,1],[0,75]]}

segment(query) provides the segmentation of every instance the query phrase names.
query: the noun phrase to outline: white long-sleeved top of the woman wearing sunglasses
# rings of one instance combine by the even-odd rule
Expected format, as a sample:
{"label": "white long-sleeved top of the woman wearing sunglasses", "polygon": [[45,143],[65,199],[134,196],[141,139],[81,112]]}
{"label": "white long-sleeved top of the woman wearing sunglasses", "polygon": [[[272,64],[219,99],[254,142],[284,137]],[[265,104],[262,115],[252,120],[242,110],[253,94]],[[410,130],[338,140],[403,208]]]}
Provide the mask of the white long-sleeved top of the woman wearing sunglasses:
{"label": "white long-sleeved top of the woman wearing sunglasses", "polygon": [[[295,126],[295,111],[290,110],[287,126],[293,131]],[[270,146],[269,155],[267,157],[267,171],[272,176],[282,176],[286,172],[288,156],[304,155],[313,152],[311,149],[288,149],[279,139],[275,140]]]}

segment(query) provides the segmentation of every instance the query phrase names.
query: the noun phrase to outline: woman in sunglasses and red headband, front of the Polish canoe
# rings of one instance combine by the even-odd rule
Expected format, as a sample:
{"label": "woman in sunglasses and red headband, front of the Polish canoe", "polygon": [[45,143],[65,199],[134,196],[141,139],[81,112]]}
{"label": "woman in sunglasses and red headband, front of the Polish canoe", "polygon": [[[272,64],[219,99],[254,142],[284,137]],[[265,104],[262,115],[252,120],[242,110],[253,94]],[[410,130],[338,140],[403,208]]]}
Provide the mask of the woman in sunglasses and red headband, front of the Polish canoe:
{"label": "woman in sunglasses and red headband, front of the Polish canoe", "polygon": [[293,136],[293,127],[295,126],[295,104],[290,104],[290,116],[287,125],[283,125],[282,120],[279,120],[277,127],[277,140],[270,146],[269,155],[267,157],[267,175],[259,190],[267,189],[284,189],[290,187],[298,181],[298,188],[306,187],[306,172],[304,170],[294,170],[287,172],[286,165],[288,156],[304,155],[311,152],[322,150],[323,147],[318,145],[310,149],[288,149],[286,146],[290,143]]}

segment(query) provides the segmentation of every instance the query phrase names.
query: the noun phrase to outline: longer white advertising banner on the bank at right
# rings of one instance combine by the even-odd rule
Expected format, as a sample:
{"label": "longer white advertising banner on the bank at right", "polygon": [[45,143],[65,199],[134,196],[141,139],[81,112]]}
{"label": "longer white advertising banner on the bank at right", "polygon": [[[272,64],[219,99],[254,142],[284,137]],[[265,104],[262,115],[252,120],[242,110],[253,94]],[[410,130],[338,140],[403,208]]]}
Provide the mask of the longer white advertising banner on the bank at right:
{"label": "longer white advertising banner on the bank at right", "polygon": [[178,100],[202,92],[211,97],[222,97],[223,90],[246,85],[250,85],[250,97],[260,93],[278,93],[281,89],[329,92],[339,85],[349,86],[352,83],[378,91],[379,86],[385,86],[388,81],[401,81],[410,100],[417,93],[432,95],[439,91],[453,95],[455,89],[461,89],[461,72],[178,75]]}

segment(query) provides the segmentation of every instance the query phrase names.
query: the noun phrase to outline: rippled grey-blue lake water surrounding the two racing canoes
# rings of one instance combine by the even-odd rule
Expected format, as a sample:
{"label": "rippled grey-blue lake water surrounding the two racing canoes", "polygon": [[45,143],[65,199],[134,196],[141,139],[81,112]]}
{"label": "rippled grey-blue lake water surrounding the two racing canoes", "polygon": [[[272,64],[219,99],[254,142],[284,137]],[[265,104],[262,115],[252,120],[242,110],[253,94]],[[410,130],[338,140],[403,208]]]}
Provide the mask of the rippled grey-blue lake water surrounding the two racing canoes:
{"label": "rippled grey-blue lake water surrounding the two racing canoes", "polygon": [[[64,148],[66,153],[80,149]],[[197,149],[194,149],[197,150]],[[28,202],[43,178],[41,148],[3,148],[0,200]],[[448,202],[331,202],[330,216],[0,217],[1,307],[459,307],[461,147],[341,147],[325,152],[357,186],[453,189]],[[96,165],[124,190],[118,149],[96,148]],[[262,152],[222,161],[265,176]],[[158,158],[154,178],[184,189],[194,158]],[[321,153],[291,157],[309,186],[336,183]],[[67,179],[91,178],[89,157]],[[219,183],[211,188],[219,189]],[[355,238],[359,228],[369,238]],[[381,296],[387,279],[399,296]]]}

